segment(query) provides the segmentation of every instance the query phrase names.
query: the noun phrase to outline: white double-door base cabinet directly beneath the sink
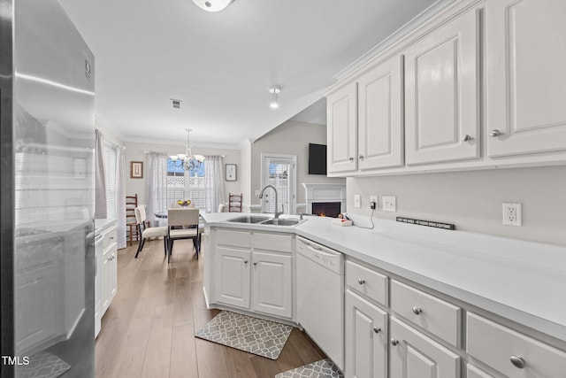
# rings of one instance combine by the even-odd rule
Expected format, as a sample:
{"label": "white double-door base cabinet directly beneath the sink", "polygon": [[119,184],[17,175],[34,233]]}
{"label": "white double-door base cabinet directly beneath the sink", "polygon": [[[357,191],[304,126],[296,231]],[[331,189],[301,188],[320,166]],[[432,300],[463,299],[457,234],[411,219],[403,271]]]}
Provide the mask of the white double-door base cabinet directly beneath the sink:
{"label": "white double-door base cabinet directly beneath the sink", "polygon": [[215,231],[211,302],[292,318],[293,236]]}

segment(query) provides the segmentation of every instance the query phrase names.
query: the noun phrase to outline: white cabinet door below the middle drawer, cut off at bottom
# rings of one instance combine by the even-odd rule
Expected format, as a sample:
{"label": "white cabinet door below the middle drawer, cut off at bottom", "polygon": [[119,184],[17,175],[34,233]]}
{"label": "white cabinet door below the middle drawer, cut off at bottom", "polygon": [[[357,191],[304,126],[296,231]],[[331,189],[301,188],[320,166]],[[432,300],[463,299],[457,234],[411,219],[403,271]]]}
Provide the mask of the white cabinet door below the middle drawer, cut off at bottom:
{"label": "white cabinet door below the middle drawer, cut off at bottom", "polygon": [[460,357],[391,318],[391,378],[459,378]]}

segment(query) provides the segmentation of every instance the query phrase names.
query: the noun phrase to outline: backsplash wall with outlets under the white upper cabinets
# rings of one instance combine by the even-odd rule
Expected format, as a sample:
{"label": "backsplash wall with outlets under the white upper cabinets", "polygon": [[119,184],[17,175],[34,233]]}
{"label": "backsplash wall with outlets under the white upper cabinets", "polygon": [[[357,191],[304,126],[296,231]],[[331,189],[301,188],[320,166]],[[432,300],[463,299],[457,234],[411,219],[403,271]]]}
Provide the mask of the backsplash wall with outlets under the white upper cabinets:
{"label": "backsplash wall with outlets under the white upper cabinets", "polygon": [[[374,217],[442,221],[463,231],[566,245],[566,166],[348,178],[347,193],[348,212],[369,216],[369,198],[378,195]],[[362,195],[361,209],[355,194]],[[397,197],[397,212],[381,210],[383,195]],[[523,204],[523,227],[501,224],[503,202]]]}

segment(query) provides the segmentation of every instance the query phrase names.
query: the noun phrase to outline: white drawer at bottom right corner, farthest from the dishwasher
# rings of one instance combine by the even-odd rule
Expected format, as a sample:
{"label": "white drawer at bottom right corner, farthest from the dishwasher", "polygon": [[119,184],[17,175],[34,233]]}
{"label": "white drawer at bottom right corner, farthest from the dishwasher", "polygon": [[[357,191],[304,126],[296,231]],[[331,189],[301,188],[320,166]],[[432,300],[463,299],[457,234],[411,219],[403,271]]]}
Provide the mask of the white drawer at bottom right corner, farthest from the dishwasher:
{"label": "white drawer at bottom right corner, farthest from the dishwasher", "polygon": [[468,312],[467,320],[466,351],[495,370],[509,378],[564,376],[566,352],[474,313]]}

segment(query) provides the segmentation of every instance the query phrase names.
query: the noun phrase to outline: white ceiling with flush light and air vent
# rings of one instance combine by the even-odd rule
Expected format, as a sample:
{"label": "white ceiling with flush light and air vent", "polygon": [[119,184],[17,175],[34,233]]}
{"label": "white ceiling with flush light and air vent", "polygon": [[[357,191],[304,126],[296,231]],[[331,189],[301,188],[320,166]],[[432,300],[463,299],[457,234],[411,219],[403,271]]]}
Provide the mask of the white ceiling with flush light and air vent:
{"label": "white ceiling with flush light and air vent", "polygon": [[325,123],[333,76],[440,2],[236,0],[213,13],[191,0],[61,0],[95,54],[96,112],[107,126],[152,143],[184,143],[190,127],[192,144],[218,147],[294,116]]}

